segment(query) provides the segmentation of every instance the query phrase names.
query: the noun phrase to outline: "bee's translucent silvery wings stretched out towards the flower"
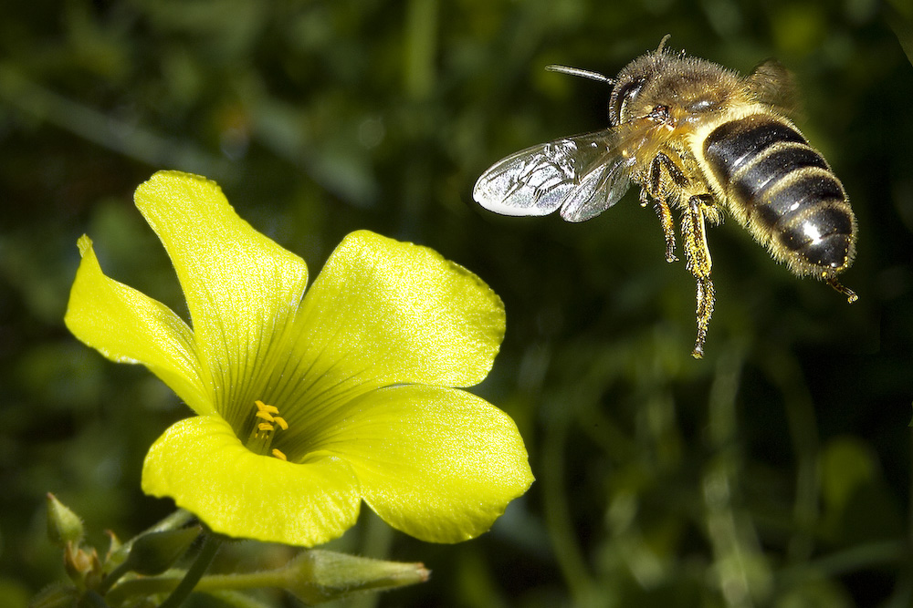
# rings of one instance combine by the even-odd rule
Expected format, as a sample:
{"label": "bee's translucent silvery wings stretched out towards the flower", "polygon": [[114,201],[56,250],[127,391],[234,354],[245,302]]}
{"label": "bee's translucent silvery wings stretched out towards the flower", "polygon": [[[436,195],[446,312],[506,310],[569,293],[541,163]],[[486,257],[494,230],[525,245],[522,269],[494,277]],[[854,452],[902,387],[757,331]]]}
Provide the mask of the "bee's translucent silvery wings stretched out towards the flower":
{"label": "bee's translucent silvery wings stretched out towards the flower", "polygon": [[627,186],[628,163],[603,129],[511,154],[478,178],[472,198],[502,215],[560,208],[568,222],[583,222],[614,205]]}

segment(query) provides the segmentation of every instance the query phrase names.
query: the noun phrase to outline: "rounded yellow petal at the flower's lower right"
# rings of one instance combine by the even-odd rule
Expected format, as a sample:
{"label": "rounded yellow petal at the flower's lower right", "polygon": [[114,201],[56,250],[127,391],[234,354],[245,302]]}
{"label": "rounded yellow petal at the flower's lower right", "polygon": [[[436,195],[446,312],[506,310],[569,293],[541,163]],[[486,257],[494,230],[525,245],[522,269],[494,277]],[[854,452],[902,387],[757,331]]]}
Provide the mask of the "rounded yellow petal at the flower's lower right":
{"label": "rounded yellow petal at the flower's lower right", "polygon": [[513,420],[466,391],[393,386],[350,405],[313,445],[347,459],[362,498],[416,538],[474,538],[532,483]]}

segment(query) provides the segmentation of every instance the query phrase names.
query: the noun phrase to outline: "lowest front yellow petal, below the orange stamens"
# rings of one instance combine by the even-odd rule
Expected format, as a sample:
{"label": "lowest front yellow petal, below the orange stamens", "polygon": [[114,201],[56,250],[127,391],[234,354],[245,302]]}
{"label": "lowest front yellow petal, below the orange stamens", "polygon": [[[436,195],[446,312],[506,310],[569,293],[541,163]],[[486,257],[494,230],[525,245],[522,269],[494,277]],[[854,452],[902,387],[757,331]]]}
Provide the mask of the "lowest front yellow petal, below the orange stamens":
{"label": "lowest front yellow petal, below the orange stamens", "polygon": [[293,464],[258,456],[217,416],[186,418],[158,438],[142,466],[142,490],[170,496],[214,531],[310,547],[358,519],[358,482],[344,460]]}

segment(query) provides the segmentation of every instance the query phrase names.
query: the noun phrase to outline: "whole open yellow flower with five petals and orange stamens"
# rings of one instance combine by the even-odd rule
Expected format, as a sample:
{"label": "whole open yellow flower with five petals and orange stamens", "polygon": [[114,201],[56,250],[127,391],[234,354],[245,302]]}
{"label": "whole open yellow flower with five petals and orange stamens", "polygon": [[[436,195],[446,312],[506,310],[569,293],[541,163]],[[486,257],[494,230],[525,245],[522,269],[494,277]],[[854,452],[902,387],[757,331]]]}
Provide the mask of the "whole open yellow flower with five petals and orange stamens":
{"label": "whole open yellow flower with five petals and orange stamens", "polygon": [[488,374],[504,334],[503,306],[474,274],[353,232],[305,294],[305,263],[214,182],[162,171],[135,201],[192,327],[105,276],[85,236],[66,323],[197,414],[152,445],[145,492],[228,536],[312,546],[350,528],[362,500],[419,539],[467,540],[529,488],[516,425],[456,388]]}

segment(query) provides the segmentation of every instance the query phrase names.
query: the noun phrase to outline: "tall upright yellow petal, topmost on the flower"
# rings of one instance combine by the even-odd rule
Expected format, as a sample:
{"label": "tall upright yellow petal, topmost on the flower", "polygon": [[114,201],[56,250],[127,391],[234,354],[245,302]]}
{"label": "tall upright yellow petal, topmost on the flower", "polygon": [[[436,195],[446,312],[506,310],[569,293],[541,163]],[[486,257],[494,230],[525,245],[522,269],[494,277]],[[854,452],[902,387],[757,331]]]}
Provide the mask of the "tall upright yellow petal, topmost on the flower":
{"label": "tall upright yellow petal, topmost on the flower", "polygon": [[[214,181],[160,171],[136,191],[184,288],[205,378],[240,430],[283,352],[308,282],[305,263],[239,218]],[[250,376],[256,374],[257,377]]]}

